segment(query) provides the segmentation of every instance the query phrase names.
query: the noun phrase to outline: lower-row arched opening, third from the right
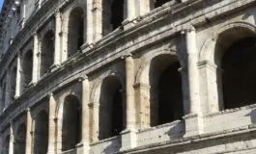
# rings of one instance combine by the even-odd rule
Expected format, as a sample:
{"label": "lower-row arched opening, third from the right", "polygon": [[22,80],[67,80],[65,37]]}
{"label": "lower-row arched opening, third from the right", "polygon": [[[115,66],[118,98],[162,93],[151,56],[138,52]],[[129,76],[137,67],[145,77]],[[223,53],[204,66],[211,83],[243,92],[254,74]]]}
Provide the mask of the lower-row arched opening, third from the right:
{"label": "lower-row arched opening, third from the right", "polygon": [[102,81],[100,88],[100,140],[120,135],[125,128],[122,84],[115,76]]}

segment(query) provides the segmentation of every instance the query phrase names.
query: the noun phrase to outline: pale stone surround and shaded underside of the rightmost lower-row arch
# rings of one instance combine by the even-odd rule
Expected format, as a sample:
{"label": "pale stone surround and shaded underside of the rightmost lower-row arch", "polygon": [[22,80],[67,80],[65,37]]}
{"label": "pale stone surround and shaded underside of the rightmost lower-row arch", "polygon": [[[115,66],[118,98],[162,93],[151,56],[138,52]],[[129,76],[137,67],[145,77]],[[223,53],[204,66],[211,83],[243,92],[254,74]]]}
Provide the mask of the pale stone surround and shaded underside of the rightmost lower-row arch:
{"label": "pale stone surround and shaded underside of the rightmost lower-row arch", "polygon": [[[208,76],[202,76],[202,81],[205,82],[206,87],[202,87],[201,89],[206,92],[206,97],[204,99],[209,102],[208,111],[216,112],[223,109],[230,109],[234,107],[241,107],[241,105],[237,104],[233,107],[227,107],[225,104],[227,103],[227,99],[225,98],[227,91],[223,91],[223,86],[225,85],[223,82],[233,81],[232,78],[224,79],[223,71],[227,67],[223,67],[223,60],[227,56],[227,53],[232,50],[232,46],[236,46],[237,43],[240,43],[242,39],[255,38],[256,28],[245,22],[234,22],[227,25],[224,25],[222,28],[218,30],[217,34],[213,34],[213,38],[205,41],[199,55],[199,62],[203,65],[201,71],[205,71]],[[249,45],[249,44],[248,44]],[[245,51],[245,50],[244,50]],[[236,52],[236,51],[235,51]],[[233,53],[233,52],[229,52]],[[234,54],[229,54],[233,55]],[[235,54],[236,55],[236,54]],[[244,55],[244,53],[240,52],[237,55]],[[228,56],[229,57],[229,56]],[[231,56],[232,57],[232,56]],[[236,57],[236,56],[235,56]],[[253,57],[253,55],[251,55]],[[230,58],[227,58],[230,59]],[[234,59],[235,60],[235,59]],[[234,60],[230,60],[229,63],[234,63]],[[228,65],[228,64],[225,64]],[[224,69],[223,69],[224,68]],[[244,70],[248,70],[244,68]],[[238,71],[237,69],[235,70]],[[204,74],[204,73],[202,73]],[[241,81],[240,81],[241,82]],[[237,84],[236,84],[237,85]],[[228,89],[226,89],[228,90]],[[240,89],[242,90],[242,89]],[[232,92],[230,90],[228,93]],[[224,94],[224,95],[223,95]],[[237,94],[236,94],[237,95]],[[241,95],[241,94],[240,94]],[[225,100],[224,100],[225,99]],[[246,104],[246,103],[245,103]],[[243,104],[243,105],[245,105]]]}

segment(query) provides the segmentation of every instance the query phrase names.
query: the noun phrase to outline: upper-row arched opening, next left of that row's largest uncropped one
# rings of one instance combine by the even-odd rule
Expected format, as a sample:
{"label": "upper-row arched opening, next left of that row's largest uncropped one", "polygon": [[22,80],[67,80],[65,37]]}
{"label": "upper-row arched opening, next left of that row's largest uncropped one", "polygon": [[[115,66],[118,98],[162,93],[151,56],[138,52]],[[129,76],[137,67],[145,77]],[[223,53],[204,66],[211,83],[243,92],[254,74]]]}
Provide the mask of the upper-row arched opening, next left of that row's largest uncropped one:
{"label": "upper-row arched opening, next left of that row's largest uncropped one", "polygon": [[50,66],[54,62],[54,33],[47,32],[43,37],[42,53],[41,53],[41,69],[40,76],[49,71]]}

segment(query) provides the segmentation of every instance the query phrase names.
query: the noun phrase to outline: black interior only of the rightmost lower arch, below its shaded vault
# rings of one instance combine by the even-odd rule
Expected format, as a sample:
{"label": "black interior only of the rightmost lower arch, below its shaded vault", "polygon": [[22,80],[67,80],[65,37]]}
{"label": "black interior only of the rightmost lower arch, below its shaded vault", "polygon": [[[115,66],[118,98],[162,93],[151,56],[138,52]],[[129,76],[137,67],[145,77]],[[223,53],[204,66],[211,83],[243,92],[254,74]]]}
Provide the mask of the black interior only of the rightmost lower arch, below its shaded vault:
{"label": "black interior only of the rightmost lower arch, below its shaded vault", "polygon": [[256,39],[233,43],[224,53],[222,87],[224,109],[256,103]]}

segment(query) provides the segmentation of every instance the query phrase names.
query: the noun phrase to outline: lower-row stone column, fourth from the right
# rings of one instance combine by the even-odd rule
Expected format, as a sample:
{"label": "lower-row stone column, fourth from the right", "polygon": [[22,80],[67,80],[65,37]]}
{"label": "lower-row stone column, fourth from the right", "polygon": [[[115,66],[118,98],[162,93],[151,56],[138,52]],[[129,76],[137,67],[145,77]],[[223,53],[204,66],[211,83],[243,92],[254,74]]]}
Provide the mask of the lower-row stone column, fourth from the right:
{"label": "lower-row stone column, fourth from the right", "polygon": [[56,108],[57,103],[54,99],[53,93],[49,94],[49,135],[48,135],[48,154],[54,154],[56,152]]}

